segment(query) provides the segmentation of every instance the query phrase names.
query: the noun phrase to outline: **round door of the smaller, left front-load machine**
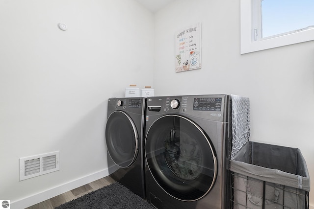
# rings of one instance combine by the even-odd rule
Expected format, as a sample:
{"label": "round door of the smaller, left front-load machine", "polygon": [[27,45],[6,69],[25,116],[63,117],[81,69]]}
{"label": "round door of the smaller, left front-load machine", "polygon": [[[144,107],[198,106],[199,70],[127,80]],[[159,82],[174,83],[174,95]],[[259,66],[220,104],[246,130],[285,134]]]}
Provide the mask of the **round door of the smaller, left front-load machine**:
{"label": "round door of the smaller, left front-load machine", "polygon": [[113,112],[107,120],[105,138],[113,162],[131,166],[138,152],[138,135],[131,117],[122,111]]}

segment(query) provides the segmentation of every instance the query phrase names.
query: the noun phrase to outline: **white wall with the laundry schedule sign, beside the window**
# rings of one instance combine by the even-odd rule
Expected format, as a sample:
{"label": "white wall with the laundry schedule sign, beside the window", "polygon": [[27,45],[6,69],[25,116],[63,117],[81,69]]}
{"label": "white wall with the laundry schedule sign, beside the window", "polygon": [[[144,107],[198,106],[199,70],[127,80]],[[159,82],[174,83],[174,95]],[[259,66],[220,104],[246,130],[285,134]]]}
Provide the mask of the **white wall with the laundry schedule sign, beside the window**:
{"label": "white wall with the laundry schedule sign, beside the window", "polygon": [[[248,96],[251,140],[300,148],[314,179],[314,42],[240,55],[239,8],[239,0],[177,0],[159,10],[155,92]],[[175,32],[198,22],[202,69],[176,73]]]}

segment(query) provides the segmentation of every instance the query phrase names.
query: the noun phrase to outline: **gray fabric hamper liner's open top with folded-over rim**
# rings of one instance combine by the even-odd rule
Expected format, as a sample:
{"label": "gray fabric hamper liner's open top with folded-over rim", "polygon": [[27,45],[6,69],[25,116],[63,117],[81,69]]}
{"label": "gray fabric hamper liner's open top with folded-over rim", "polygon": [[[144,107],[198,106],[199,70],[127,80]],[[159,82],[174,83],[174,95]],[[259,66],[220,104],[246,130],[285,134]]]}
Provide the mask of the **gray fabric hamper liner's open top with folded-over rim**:
{"label": "gray fabric hamper liner's open top with folded-over rim", "polygon": [[230,166],[244,176],[310,191],[309,171],[298,148],[249,141]]}

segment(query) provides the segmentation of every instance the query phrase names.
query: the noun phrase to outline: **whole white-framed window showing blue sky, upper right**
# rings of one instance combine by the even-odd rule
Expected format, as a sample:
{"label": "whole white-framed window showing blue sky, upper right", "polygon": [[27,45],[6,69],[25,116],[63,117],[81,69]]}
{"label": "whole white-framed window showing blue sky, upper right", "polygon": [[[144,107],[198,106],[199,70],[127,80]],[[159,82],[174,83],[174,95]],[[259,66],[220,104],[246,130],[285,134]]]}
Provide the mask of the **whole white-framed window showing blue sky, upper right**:
{"label": "whole white-framed window showing blue sky, upper right", "polygon": [[240,0],[241,54],[314,40],[313,0]]}

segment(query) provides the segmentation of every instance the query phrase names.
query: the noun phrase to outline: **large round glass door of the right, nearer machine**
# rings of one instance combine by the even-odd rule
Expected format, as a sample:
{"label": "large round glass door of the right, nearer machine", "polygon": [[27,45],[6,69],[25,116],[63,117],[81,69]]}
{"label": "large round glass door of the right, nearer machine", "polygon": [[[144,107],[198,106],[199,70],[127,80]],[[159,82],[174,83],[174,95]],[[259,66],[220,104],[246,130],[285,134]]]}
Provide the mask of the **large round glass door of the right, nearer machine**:
{"label": "large round glass door of the right, nearer machine", "polygon": [[162,116],[151,125],[145,155],[157,184],[179,200],[198,200],[215,182],[217,160],[209,139],[183,116]]}

